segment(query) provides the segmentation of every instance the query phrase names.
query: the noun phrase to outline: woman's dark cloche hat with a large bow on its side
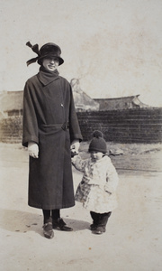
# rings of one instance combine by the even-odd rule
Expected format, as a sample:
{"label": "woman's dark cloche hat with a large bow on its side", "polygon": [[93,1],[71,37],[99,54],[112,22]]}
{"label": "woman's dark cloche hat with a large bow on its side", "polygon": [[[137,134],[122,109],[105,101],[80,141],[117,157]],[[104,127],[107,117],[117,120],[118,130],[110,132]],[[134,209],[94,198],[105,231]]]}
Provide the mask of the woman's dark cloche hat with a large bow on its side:
{"label": "woman's dark cloche hat with a large bow on its side", "polygon": [[38,63],[41,65],[42,59],[46,57],[57,57],[59,65],[64,63],[64,60],[60,57],[61,54],[60,47],[55,43],[52,42],[46,43],[40,48],[40,50],[38,44],[31,45],[31,42],[26,42],[26,45],[29,46],[32,51],[38,54],[36,58],[33,58],[26,62],[27,66],[36,61],[38,61]]}

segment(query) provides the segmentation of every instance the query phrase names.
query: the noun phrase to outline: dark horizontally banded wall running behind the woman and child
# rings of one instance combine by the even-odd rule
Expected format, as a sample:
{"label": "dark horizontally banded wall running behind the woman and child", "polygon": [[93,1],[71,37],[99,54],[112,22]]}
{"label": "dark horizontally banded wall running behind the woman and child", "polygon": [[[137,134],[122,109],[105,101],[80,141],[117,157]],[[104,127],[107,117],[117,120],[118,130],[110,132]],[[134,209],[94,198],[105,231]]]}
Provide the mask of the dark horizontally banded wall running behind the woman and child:
{"label": "dark horizontally banded wall running behind the woman and child", "polygon": [[[98,129],[109,142],[162,143],[162,107],[77,112],[77,117],[84,141]],[[21,142],[22,117],[4,118],[0,128],[1,142]]]}

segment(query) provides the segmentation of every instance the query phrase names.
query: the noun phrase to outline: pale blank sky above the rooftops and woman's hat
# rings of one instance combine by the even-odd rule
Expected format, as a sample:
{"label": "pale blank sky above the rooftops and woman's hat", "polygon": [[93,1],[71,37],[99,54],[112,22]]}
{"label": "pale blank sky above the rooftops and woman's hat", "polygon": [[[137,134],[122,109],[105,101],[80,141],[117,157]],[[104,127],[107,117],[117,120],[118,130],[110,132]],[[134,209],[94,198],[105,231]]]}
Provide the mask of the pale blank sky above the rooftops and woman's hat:
{"label": "pale blank sky above the rooftops and woman's hat", "polygon": [[23,90],[38,72],[26,42],[54,42],[59,74],[91,98],[139,95],[162,107],[161,0],[0,0],[0,23],[0,91]]}

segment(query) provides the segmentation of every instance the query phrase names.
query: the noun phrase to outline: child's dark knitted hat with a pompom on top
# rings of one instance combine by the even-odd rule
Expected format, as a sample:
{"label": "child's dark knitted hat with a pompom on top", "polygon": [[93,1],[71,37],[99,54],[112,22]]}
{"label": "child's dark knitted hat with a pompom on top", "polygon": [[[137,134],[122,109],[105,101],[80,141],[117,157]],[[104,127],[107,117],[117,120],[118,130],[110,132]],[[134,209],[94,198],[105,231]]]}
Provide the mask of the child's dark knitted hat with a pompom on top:
{"label": "child's dark knitted hat with a pompom on top", "polygon": [[89,152],[101,152],[105,154],[107,152],[107,145],[105,140],[103,139],[103,133],[100,131],[94,131],[94,138],[90,142]]}

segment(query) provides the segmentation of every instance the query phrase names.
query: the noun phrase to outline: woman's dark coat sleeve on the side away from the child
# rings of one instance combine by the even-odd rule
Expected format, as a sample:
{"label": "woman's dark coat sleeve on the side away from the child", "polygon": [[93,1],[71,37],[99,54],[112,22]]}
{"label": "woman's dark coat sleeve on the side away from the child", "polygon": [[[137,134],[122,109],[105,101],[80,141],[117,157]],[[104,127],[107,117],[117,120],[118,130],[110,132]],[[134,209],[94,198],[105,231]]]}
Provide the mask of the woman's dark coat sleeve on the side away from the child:
{"label": "woman's dark coat sleeve on the side away from the child", "polygon": [[30,141],[38,144],[39,136],[30,83],[27,81],[23,90],[23,146],[27,147]]}

